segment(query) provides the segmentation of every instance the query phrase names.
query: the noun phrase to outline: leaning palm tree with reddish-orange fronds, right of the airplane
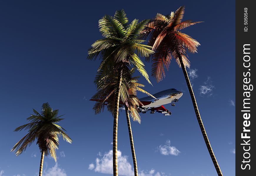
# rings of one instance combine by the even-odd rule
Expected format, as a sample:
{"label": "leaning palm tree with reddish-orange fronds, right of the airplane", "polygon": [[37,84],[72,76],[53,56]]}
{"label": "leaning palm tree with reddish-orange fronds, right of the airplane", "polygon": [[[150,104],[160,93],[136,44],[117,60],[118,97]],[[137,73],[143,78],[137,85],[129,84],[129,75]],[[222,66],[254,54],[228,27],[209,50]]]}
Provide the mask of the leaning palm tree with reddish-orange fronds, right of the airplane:
{"label": "leaning palm tree with reddish-orange fronds, right of the airplane", "polygon": [[180,30],[194,24],[201,23],[201,21],[182,21],[184,9],[184,6],[182,6],[177,9],[177,11],[171,12],[166,16],[157,13],[157,16],[149,22],[147,25],[148,28],[143,31],[143,38],[147,38],[149,36],[148,44],[152,46],[152,50],[154,50],[155,53],[146,59],[152,60],[152,76],[156,78],[157,82],[161,81],[163,77],[165,77],[164,68],[166,67],[168,70],[172,57],[176,60],[179,67],[182,68],[205,144],[210,153],[217,174],[222,175],[200,117],[195,95],[186,70],[186,67],[189,67],[187,51],[190,53],[196,53],[197,47],[200,43],[189,35],[180,32]]}

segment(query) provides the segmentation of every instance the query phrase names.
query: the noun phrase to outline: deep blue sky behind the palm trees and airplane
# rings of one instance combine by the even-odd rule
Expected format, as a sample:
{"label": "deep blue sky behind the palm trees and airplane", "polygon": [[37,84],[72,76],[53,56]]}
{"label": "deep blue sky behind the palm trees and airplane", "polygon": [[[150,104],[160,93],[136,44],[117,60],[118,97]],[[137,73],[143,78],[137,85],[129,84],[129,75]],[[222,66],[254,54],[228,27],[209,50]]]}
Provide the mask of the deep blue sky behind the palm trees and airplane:
{"label": "deep blue sky behind the palm trees and airplane", "polygon": [[[182,5],[184,20],[205,21],[183,30],[201,43],[189,55],[188,72],[223,175],[235,175],[235,1],[0,1],[0,176],[38,174],[36,143],[18,157],[10,149],[26,134],[14,128],[44,102],[65,114],[60,125],[73,143],[61,139],[58,161],[46,157],[43,175],[109,175],[113,118],[107,111],[94,115],[89,99],[99,61],[86,60],[87,49],[101,38],[98,20],[123,8],[129,21],[143,20]],[[146,69],[150,74],[149,63]],[[147,113],[141,124],[132,122],[140,176],[216,175],[182,70],[173,61],[164,81],[151,82],[153,87],[141,78],[152,94],[169,88],[184,94],[175,107],[166,106],[172,116]],[[118,150],[119,175],[131,175],[124,111]]]}

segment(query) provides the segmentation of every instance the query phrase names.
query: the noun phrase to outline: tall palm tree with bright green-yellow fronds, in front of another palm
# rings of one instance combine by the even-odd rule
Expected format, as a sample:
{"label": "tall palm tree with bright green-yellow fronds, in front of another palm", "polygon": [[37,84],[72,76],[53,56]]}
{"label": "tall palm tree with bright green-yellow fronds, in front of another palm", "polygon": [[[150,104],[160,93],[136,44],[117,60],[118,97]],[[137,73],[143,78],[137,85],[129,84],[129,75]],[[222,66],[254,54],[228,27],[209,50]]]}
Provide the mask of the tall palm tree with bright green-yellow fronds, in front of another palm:
{"label": "tall palm tree with bright green-yellow fronds, in front of another palm", "polygon": [[143,45],[144,40],[138,40],[139,34],[148,22],[149,20],[139,22],[139,20],[134,19],[128,24],[124,10],[116,11],[114,16],[105,15],[99,20],[99,31],[102,33],[103,39],[96,40],[88,51],[87,58],[89,60],[95,60],[98,56],[102,60],[96,76],[97,89],[104,85],[102,79],[106,75],[118,73],[118,83],[114,90],[116,95],[113,125],[113,173],[115,176],[118,175],[117,125],[123,73],[129,70],[131,65],[134,65],[150,83],[145,66],[139,56],[148,57],[153,53],[152,47]]}

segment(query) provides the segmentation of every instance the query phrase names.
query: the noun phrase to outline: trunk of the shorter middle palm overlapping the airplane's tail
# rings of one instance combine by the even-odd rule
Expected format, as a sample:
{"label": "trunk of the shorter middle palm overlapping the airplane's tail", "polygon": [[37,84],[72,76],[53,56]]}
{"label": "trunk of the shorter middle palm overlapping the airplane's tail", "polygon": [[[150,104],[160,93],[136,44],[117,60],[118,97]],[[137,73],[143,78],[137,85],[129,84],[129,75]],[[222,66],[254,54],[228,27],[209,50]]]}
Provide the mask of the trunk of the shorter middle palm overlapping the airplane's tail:
{"label": "trunk of the shorter middle palm overlapping the airplane's tail", "polygon": [[134,176],[138,176],[137,160],[136,160],[134,143],[133,143],[133,138],[132,138],[132,127],[131,127],[130,116],[129,116],[129,112],[128,112],[128,107],[127,106],[125,106],[125,113],[126,113],[126,119],[127,119],[127,125],[128,125],[129,137],[130,137],[130,144],[131,144],[131,150],[132,150],[132,160],[133,160],[133,167],[134,167]]}

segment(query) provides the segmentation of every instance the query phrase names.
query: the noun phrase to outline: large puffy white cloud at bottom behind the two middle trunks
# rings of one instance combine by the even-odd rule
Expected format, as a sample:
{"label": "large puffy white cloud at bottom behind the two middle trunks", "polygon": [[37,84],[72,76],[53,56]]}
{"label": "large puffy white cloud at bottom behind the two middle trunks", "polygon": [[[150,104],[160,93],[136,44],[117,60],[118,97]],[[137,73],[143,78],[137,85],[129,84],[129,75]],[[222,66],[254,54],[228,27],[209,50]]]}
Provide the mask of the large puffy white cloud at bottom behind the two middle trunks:
{"label": "large puffy white cloud at bottom behind the two middle trunks", "polygon": [[[124,176],[133,176],[134,170],[132,165],[128,161],[128,156],[122,155],[120,150],[117,150],[118,160],[118,174]],[[89,170],[104,174],[113,174],[113,150],[101,155],[100,158],[96,158],[95,164],[91,163],[88,167]],[[162,172],[161,172],[162,173]],[[165,176],[156,172],[153,168],[151,170],[139,171],[139,176]]]}

